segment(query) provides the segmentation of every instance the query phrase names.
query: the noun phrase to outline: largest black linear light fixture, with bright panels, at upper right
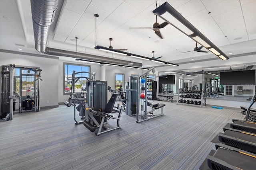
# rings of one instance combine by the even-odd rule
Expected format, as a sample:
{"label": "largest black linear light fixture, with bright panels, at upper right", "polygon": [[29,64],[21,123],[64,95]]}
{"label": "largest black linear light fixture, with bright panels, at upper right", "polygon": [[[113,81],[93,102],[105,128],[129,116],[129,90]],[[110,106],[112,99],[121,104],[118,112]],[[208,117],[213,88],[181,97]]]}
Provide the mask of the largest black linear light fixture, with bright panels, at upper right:
{"label": "largest black linear light fixture, with bright panels, at upper right", "polygon": [[156,8],[153,13],[176,29],[186,34],[191,39],[204,46],[213,54],[222,60],[229,59],[216,45],[214,45],[208,38],[206,38],[194,25],[192,25],[186,18],[184,18],[178,11],[176,11],[168,2],[164,2],[161,6]]}

